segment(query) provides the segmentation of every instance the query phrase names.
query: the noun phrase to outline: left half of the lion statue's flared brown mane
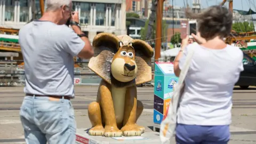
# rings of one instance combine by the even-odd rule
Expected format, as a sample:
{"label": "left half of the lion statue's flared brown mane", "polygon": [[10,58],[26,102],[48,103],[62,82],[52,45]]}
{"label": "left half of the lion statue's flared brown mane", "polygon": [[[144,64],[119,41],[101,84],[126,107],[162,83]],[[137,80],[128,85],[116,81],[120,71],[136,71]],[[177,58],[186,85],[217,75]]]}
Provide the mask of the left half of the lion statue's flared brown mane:
{"label": "left half of the lion statue's flared brown mane", "polygon": [[119,39],[110,33],[100,33],[93,39],[94,55],[88,67],[106,82],[110,81],[110,66],[115,53],[119,48]]}

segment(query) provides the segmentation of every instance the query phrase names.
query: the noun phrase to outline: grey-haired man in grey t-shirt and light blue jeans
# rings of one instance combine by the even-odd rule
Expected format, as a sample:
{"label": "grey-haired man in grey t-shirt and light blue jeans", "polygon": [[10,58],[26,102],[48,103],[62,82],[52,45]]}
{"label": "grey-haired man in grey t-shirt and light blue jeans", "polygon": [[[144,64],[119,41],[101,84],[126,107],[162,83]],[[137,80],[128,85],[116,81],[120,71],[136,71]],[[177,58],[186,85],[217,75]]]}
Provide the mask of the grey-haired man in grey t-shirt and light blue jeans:
{"label": "grey-haired man in grey t-shirt and light blue jeans", "polygon": [[[20,108],[26,143],[75,143],[74,59],[89,59],[92,46],[70,0],[47,0],[39,20],[23,26],[19,43],[25,62],[26,96]],[[71,18],[71,19],[70,19]],[[69,28],[67,21],[70,19]]]}

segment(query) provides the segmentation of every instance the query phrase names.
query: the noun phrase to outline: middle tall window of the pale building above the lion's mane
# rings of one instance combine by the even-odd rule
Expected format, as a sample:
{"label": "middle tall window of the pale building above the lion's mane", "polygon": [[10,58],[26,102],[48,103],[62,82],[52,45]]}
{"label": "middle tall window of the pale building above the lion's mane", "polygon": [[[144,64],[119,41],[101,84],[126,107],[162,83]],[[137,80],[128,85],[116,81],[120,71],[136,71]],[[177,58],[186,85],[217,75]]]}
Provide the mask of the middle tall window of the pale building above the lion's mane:
{"label": "middle tall window of the pale building above the lion's mane", "polygon": [[96,25],[104,26],[106,21],[106,4],[97,3],[96,7]]}

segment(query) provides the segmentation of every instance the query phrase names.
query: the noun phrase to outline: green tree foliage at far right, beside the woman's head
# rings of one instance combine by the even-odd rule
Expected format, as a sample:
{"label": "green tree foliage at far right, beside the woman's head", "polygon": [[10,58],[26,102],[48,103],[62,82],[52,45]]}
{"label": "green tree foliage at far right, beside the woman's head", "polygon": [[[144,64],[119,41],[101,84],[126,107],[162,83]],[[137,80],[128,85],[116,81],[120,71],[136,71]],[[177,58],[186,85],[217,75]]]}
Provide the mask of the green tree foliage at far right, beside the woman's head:
{"label": "green tree foliage at far right, beside the woman's head", "polygon": [[235,30],[237,33],[244,33],[248,31],[254,31],[254,26],[252,22],[236,22],[233,23],[232,29]]}

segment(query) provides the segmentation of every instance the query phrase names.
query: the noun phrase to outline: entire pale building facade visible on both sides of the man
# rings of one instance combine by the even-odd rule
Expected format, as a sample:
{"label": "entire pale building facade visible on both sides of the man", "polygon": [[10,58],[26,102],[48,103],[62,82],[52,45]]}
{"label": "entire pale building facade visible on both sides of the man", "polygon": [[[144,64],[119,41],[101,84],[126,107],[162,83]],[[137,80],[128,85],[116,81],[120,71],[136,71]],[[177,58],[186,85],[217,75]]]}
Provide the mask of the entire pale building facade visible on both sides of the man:
{"label": "entire pale building facade visible on both sides of the man", "polygon": [[[33,18],[33,13],[36,18],[41,17],[39,0],[34,1],[35,4],[33,0],[0,1],[0,26],[20,29]],[[125,9],[125,0],[73,1],[73,10],[79,13],[82,31],[89,36],[91,42],[101,32],[126,34]]]}

